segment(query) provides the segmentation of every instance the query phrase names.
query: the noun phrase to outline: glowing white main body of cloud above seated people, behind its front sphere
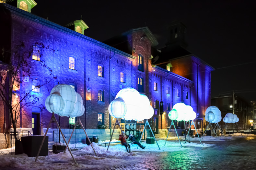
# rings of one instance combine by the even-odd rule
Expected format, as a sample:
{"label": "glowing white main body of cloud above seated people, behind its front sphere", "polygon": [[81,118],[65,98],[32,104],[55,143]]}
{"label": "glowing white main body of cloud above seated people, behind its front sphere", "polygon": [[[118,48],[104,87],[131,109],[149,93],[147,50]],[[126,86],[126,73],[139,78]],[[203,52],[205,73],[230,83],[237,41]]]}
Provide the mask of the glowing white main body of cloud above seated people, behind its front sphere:
{"label": "glowing white main body of cloud above seated people, behind its front sphere", "polygon": [[[154,115],[154,109],[150,105],[147,96],[140,94],[134,88],[123,88],[117,93],[116,99],[117,98],[122,98],[126,105],[126,114],[123,114],[125,120],[134,119],[136,121],[141,121],[149,119]],[[109,110],[109,113],[112,114],[112,111]],[[119,116],[119,118],[122,117]]]}

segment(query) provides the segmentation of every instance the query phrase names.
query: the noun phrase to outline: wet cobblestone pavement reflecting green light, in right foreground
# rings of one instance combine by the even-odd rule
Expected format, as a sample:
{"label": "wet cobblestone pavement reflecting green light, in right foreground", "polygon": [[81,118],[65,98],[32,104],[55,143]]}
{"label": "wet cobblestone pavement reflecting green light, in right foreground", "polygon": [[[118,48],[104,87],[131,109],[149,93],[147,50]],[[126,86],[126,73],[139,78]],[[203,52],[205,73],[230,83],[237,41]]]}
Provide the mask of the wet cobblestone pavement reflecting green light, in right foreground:
{"label": "wet cobblestone pavement reflecting green light, in right foreground", "polygon": [[135,158],[118,158],[128,160],[129,164],[113,165],[105,170],[256,169],[255,136],[204,143],[215,145],[177,152],[136,152]]}

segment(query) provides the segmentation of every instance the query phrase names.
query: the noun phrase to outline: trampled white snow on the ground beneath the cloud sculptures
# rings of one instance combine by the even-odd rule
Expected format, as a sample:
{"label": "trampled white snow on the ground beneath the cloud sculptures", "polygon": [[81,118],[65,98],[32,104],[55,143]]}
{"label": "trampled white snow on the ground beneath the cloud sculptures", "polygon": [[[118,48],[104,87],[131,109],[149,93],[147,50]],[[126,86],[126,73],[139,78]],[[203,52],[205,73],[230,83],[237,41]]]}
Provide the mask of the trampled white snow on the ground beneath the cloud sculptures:
{"label": "trampled white snow on the ground beneath the cloud sculptures", "polygon": [[[96,157],[94,154],[94,151],[90,145],[86,144],[71,144],[71,147],[83,147],[81,150],[78,150],[79,152],[72,151],[74,154],[74,158],[76,159],[78,164],[75,164],[69,151],[66,153],[62,152],[59,154],[53,154],[51,151],[49,151],[48,156],[39,156],[37,162],[35,161],[35,157],[28,157],[26,154],[20,154],[20,155],[9,155],[9,149],[2,149],[0,150],[0,169],[6,168],[6,169],[40,169],[40,170],[46,170],[46,169],[90,169],[95,167],[101,167],[104,168],[104,165],[113,165],[115,162],[122,162],[123,164],[126,164],[127,161],[124,159],[120,159],[120,157],[124,156],[132,156],[136,159],[136,156],[139,156],[139,152],[175,152],[180,150],[189,150],[193,147],[211,147],[212,144],[205,144],[205,141],[223,141],[223,140],[232,140],[237,137],[245,137],[245,136],[251,136],[252,134],[242,134],[241,133],[234,133],[231,136],[225,135],[224,136],[204,136],[201,141],[202,144],[199,141],[199,138],[192,138],[190,137],[190,141],[197,141],[196,143],[191,142],[188,143],[185,141],[178,141],[178,138],[172,137],[168,138],[168,141],[165,145],[165,140],[157,140],[157,143],[155,144],[146,144],[146,142],[142,142],[141,144],[143,146],[146,146],[145,149],[141,149],[140,147],[137,148],[138,145],[131,145],[131,153],[127,153],[125,146],[122,146],[120,144],[118,145],[110,145],[108,151],[108,147],[99,146],[96,143],[92,143],[93,148],[95,149],[95,152],[99,157]],[[181,137],[180,139],[185,139],[185,137]],[[187,138],[188,139],[188,138]],[[118,140],[112,140],[112,141],[118,141]],[[99,144],[102,142],[109,142],[109,141],[100,141]],[[160,150],[157,146],[157,144],[160,147]],[[73,146],[74,145],[74,146]],[[76,154],[79,153],[79,154]],[[81,154],[84,153],[84,154]],[[89,155],[86,155],[89,154]],[[95,165],[95,161],[97,160],[97,165]]]}

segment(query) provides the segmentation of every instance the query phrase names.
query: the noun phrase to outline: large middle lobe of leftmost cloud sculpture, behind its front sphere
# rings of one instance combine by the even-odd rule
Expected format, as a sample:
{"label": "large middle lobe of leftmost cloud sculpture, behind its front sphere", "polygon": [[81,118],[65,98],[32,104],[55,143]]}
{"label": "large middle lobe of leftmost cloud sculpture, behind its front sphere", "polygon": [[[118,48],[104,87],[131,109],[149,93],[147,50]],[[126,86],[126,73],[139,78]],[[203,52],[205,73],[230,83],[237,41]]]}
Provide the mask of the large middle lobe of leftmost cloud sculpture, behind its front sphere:
{"label": "large middle lobe of leftmost cloud sculpture, behind its front sphere", "polygon": [[54,92],[59,92],[64,100],[64,108],[59,115],[69,117],[69,115],[74,112],[76,107],[76,91],[70,85],[59,84],[52,88],[51,94]]}

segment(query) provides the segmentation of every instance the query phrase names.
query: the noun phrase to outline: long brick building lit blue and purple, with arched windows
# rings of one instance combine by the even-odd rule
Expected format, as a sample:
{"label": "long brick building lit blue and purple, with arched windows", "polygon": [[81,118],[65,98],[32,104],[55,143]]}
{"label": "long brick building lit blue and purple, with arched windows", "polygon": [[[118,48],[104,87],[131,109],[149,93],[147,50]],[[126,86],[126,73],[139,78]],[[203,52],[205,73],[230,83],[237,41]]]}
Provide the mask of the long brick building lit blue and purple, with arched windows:
{"label": "long brick building lit blue and purple, with arched windows", "polygon": [[[40,54],[36,50],[30,56],[31,61],[44,62],[52,69],[52,74],[57,75],[57,79],[32,90],[40,98],[38,105],[44,105],[56,84],[69,84],[83,98],[85,114],[80,119],[84,127],[96,130],[98,125],[106,125],[111,129],[115,120],[108,113],[109,103],[119,90],[133,87],[145,94],[155,109],[149,122],[156,133],[170,125],[167,113],[178,102],[191,105],[198,116],[204,118],[204,112],[211,103],[210,71],[213,68],[182,46],[184,25],[174,25],[170,29],[170,41],[165,49],[154,49],[158,43],[147,27],[132,29],[102,43],[84,35],[88,26],[83,20],[63,27],[31,14],[34,5],[33,0],[18,1],[17,7],[0,3],[3,16],[0,49],[3,50],[2,70],[18,42],[24,42],[25,48],[38,48],[37,42],[42,42],[54,50],[43,49]],[[50,78],[43,67],[34,66],[30,70],[32,75],[21,82],[23,89],[13,91],[13,95],[19,95],[21,90],[31,90],[33,85],[44,84],[46,78]],[[161,101],[164,103],[163,114],[159,112]],[[0,133],[4,133],[11,124],[2,102],[0,108]],[[50,118],[51,114],[46,109],[27,107],[21,112],[17,128],[34,127],[34,135],[40,135]],[[74,119],[68,117],[57,116],[57,119],[64,129],[69,129],[74,123]],[[56,128],[56,125],[51,128]]]}

